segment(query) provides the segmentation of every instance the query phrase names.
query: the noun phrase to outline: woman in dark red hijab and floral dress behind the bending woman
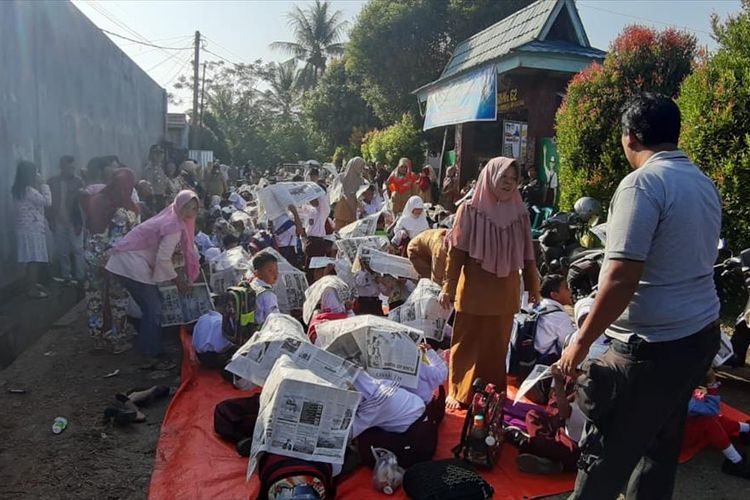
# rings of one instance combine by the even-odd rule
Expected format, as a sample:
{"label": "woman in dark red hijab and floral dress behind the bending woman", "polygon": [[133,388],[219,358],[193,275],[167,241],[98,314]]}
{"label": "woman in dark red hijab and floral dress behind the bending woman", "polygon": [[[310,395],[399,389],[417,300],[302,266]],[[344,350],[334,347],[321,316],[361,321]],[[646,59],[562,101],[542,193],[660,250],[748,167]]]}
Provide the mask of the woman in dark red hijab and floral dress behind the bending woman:
{"label": "woman in dark red hijab and floral dress behind the bending woman", "polygon": [[132,346],[128,342],[128,292],[105,270],[112,247],[138,224],[139,210],[133,202],[135,174],[118,168],[109,183],[95,194],[81,195],[84,213],[86,260],[86,310],[94,348],[115,354]]}

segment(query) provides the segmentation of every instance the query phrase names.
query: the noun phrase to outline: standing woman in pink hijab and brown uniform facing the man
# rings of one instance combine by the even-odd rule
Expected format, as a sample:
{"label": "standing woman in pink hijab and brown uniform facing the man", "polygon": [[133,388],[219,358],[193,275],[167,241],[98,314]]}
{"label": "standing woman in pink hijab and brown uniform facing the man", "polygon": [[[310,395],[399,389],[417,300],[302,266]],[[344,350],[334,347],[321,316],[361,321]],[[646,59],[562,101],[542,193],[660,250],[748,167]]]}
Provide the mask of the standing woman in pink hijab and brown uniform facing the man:
{"label": "standing woman in pink hijab and brown uniform facing the man", "polygon": [[518,192],[521,172],[511,158],[493,158],[471,200],[456,214],[440,303],[455,300],[449,395],[456,409],[471,399],[476,378],[505,390],[505,357],[513,315],[520,309],[523,269],[529,301],[539,303],[529,212]]}

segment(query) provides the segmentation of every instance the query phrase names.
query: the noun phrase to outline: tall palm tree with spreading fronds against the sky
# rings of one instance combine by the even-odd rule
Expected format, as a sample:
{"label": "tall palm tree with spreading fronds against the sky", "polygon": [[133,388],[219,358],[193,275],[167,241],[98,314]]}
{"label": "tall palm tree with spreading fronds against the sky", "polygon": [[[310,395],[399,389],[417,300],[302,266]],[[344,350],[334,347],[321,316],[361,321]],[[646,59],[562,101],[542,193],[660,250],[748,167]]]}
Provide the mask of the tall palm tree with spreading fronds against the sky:
{"label": "tall palm tree with spreading fronds against the sky", "polygon": [[305,64],[301,73],[305,88],[315,86],[329,58],[344,53],[344,44],[339,40],[348,23],[341,20],[340,10],[330,12],[329,8],[327,1],[320,0],[306,10],[295,5],[287,14],[295,41],[271,44],[272,49],[283,50]]}

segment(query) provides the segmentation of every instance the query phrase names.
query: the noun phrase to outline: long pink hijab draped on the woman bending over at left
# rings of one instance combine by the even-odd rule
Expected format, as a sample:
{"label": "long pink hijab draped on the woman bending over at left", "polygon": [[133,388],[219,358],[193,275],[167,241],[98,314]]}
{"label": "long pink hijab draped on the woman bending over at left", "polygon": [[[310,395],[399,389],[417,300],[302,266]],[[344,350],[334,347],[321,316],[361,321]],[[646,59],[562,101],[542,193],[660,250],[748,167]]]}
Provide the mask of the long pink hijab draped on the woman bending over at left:
{"label": "long pink hijab draped on the woman bending over at left", "polygon": [[159,241],[168,234],[181,233],[180,245],[185,256],[188,281],[192,283],[200,274],[198,252],[195,250],[195,219],[181,219],[180,209],[190,201],[198,201],[198,195],[189,189],[180,191],[174,202],[146,222],[138,224],[114,247],[115,252],[144,250],[158,247]]}

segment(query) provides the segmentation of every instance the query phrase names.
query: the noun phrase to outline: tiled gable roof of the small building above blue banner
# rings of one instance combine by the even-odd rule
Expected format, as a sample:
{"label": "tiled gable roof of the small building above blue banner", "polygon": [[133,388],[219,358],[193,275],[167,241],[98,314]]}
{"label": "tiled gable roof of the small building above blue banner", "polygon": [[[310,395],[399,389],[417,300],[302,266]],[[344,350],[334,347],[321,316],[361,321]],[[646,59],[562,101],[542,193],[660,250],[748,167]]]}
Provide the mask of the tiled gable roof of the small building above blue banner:
{"label": "tiled gable roof of the small building above blue banner", "polygon": [[591,47],[573,0],[538,0],[459,43],[440,78],[415,93],[517,52],[586,59],[605,55]]}

